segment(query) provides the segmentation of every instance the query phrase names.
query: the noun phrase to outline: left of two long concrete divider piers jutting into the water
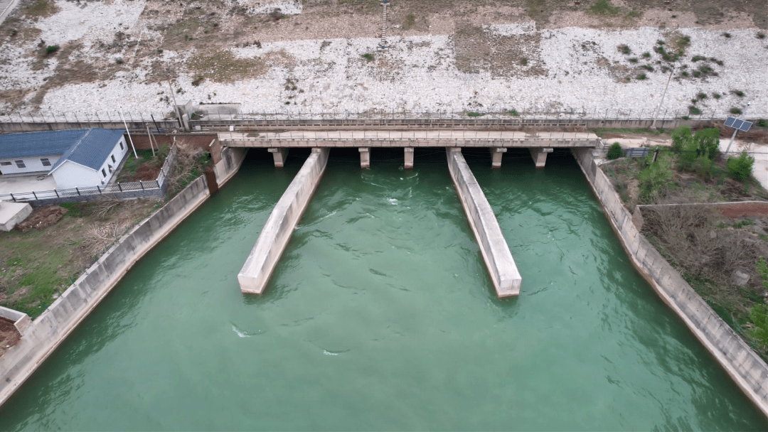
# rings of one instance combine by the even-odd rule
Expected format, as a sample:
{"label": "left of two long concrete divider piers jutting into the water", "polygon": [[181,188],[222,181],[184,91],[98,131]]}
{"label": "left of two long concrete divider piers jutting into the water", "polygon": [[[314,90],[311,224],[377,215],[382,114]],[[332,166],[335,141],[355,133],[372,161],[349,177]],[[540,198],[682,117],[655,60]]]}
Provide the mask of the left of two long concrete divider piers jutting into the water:
{"label": "left of two long concrete divider piers jutting into the water", "polygon": [[250,255],[237,274],[243,294],[261,294],[283,255],[296,223],[301,219],[328,163],[329,149],[312,149],[310,157],[266,219]]}

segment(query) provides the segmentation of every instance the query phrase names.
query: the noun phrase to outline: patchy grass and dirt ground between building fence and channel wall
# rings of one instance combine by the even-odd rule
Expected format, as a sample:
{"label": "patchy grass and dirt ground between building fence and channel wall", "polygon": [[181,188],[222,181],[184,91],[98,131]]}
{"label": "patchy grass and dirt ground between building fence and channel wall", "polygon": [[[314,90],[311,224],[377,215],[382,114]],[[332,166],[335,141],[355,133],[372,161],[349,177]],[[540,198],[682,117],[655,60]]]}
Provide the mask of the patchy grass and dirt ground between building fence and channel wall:
{"label": "patchy grass and dirt ground between building fence and channel wall", "polygon": [[105,247],[160,205],[96,200],[35,208],[33,229],[0,232],[0,305],[40,315]]}

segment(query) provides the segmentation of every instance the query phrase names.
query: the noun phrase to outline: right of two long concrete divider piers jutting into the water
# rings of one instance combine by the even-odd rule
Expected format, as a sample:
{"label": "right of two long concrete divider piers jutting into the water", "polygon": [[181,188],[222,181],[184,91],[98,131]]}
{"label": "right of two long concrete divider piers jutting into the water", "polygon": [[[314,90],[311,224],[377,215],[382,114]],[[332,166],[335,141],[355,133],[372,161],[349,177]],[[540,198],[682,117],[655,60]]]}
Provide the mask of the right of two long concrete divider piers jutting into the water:
{"label": "right of two long concrete divider piers jutting into the water", "polygon": [[500,298],[519,295],[522,279],[485,193],[464,160],[462,150],[454,147],[445,150],[448,153],[448,168],[458,198],[467,214],[469,225],[475,232],[475,239],[480,245],[496,294]]}

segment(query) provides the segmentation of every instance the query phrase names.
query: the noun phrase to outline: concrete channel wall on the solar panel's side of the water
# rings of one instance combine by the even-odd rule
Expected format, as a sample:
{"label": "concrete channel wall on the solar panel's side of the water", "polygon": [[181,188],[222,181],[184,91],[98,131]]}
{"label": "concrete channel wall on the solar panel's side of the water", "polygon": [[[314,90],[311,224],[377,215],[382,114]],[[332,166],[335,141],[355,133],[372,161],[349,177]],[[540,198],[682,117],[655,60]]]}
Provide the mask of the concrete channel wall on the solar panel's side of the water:
{"label": "concrete channel wall on the solar panel's side of the water", "polygon": [[590,150],[572,150],[634,267],[720,362],[733,381],[768,415],[768,366],[637,230],[611,181]]}

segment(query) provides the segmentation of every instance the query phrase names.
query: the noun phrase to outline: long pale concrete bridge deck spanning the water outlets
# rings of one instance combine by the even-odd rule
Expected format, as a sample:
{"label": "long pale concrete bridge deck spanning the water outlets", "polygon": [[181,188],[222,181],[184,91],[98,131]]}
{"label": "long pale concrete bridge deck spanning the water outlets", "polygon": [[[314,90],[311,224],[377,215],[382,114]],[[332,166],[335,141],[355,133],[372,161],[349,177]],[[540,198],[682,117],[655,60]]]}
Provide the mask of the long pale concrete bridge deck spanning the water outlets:
{"label": "long pale concrete bridge deck spanning the water outlets", "polygon": [[228,147],[598,147],[591,132],[478,130],[286,130],[222,132]]}

